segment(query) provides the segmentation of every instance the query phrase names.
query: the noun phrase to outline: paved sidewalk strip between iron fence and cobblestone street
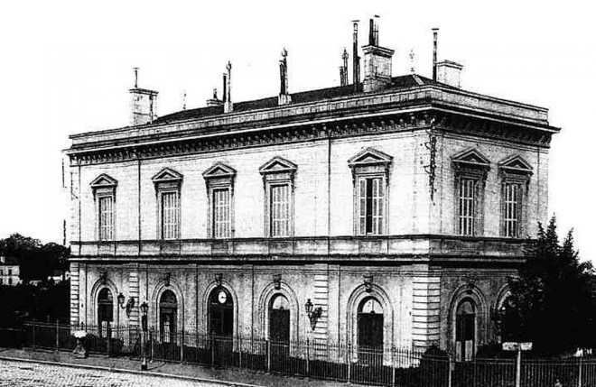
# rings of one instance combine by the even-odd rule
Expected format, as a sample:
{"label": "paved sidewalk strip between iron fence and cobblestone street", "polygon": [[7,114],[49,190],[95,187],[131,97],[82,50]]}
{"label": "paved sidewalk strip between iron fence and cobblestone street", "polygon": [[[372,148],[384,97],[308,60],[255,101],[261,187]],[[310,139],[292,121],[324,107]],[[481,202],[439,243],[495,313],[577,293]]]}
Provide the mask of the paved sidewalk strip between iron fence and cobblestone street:
{"label": "paved sidewalk strip between iron fence and cobblestone street", "polygon": [[[9,349],[0,348],[1,358],[19,358],[30,359],[45,362],[54,362],[61,364],[71,364],[73,366],[94,366],[104,369],[114,369],[118,371],[130,370],[138,372],[141,363],[138,359],[129,359],[127,357],[106,357],[105,355],[89,355],[87,359],[75,359],[70,352],[51,352],[33,349]],[[211,369],[197,364],[179,364],[167,362],[150,362],[148,364],[149,373],[160,373],[164,376],[182,376],[197,378],[201,381],[222,381],[230,385],[234,383],[247,383],[256,386],[280,386],[280,387],[331,387],[331,386],[355,386],[344,382],[331,382],[313,379],[303,379],[291,376],[282,376],[268,373],[248,372],[235,368]]]}

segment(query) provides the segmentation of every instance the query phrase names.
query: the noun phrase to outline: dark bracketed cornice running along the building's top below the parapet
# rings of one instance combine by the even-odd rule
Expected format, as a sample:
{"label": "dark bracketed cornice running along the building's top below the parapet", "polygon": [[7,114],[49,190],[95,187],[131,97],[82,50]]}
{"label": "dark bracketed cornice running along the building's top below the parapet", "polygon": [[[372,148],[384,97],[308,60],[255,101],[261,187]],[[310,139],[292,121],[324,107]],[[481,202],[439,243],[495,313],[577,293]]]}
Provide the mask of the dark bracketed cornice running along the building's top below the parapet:
{"label": "dark bracketed cornice running along the building's top below the parapet", "polygon": [[[372,97],[372,96],[371,96]],[[429,112],[431,112],[429,114]],[[396,133],[412,130],[425,130],[435,118],[436,128],[445,132],[469,134],[548,147],[556,128],[528,127],[511,122],[486,120],[481,117],[459,115],[451,112],[435,112],[427,109],[419,112],[397,112],[382,117],[346,117],[325,124],[295,124],[273,127],[271,130],[227,130],[215,137],[192,137],[196,130],[186,129],[177,132],[179,141],[168,143],[138,143],[120,145],[114,149],[73,148],[69,152],[71,165],[101,164],[107,162],[135,161],[164,156],[221,152],[228,149],[281,143],[303,143],[328,137],[338,139],[375,133]],[[255,125],[264,125],[261,121]],[[246,125],[242,125],[247,128]]]}

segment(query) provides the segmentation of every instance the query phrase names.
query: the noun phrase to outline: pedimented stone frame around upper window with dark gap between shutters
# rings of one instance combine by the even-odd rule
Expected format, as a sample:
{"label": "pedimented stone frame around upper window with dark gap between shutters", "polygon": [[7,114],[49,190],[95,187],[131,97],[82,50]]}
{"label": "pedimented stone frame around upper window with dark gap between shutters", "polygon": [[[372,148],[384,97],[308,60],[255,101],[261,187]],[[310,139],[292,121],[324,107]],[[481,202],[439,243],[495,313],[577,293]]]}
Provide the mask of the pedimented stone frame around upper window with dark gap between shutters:
{"label": "pedimented stone frame around upper window with dark gap between shutters", "polygon": [[[349,159],[348,165],[352,170],[352,186],[353,186],[353,233],[357,236],[378,236],[389,234],[389,175],[391,172],[391,164],[393,157],[384,152],[380,152],[374,148],[366,148]],[[364,232],[360,229],[360,181],[361,180],[376,180],[381,181],[380,186],[383,189],[382,204],[383,209],[380,211],[378,217],[382,219],[382,225],[377,226],[377,232],[374,232],[374,217],[372,226],[373,232],[367,233],[367,221],[365,214]],[[374,203],[374,198],[372,199]],[[374,206],[374,204],[373,204]]]}

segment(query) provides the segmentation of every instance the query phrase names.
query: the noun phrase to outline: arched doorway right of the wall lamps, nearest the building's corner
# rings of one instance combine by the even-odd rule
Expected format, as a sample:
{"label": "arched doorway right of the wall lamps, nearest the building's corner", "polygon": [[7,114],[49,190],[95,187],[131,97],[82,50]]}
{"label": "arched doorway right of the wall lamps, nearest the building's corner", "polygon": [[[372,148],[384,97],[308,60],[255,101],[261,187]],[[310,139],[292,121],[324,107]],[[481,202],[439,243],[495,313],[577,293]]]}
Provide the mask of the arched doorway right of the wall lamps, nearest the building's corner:
{"label": "arched doorway right of the wall lamps, nearest the building's corner", "polygon": [[363,299],[358,308],[359,360],[367,364],[383,361],[383,307],[374,297]]}

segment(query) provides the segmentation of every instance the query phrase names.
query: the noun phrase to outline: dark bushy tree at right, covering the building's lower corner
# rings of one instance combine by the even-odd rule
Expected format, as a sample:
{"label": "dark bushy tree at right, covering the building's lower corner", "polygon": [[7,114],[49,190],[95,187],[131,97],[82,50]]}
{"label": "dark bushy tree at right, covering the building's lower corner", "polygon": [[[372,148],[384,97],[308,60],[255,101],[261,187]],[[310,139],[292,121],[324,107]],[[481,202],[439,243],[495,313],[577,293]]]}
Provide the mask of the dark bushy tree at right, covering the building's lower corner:
{"label": "dark bushy tree at right, covering the building's lower corner", "polygon": [[592,346],[593,268],[580,262],[573,246],[573,230],[559,243],[556,219],[538,237],[517,277],[509,279],[511,297],[505,305],[508,327],[517,340],[531,341],[537,352],[562,353]]}

